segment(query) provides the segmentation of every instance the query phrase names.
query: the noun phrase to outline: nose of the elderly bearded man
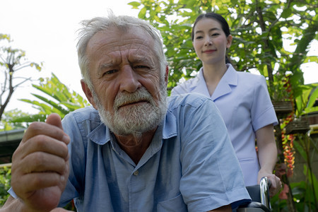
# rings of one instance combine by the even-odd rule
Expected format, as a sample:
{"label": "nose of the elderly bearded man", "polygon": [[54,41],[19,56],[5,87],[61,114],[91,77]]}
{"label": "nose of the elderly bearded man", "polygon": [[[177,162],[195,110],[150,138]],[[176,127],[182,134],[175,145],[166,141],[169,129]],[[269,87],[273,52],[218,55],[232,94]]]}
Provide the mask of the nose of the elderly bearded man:
{"label": "nose of the elderly bearded man", "polygon": [[120,91],[134,93],[138,88],[141,88],[138,73],[136,73],[129,65],[126,65],[122,68],[119,81]]}

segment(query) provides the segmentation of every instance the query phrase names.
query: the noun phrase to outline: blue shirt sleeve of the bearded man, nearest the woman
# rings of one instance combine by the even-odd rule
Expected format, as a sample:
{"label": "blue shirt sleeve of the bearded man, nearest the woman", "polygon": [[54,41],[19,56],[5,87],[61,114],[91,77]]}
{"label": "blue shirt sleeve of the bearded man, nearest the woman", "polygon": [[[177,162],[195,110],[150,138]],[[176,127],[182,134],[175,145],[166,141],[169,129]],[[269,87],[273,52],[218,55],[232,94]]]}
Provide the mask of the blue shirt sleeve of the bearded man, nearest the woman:
{"label": "blue shirt sleeve of the bearded man, nearest the woman", "polygon": [[[191,98],[193,95],[188,95]],[[201,95],[179,108],[182,179],[189,211],[208,211],[249,202],[242,171],[216,105]],[[184,114],[184,116],[182,116]]]}

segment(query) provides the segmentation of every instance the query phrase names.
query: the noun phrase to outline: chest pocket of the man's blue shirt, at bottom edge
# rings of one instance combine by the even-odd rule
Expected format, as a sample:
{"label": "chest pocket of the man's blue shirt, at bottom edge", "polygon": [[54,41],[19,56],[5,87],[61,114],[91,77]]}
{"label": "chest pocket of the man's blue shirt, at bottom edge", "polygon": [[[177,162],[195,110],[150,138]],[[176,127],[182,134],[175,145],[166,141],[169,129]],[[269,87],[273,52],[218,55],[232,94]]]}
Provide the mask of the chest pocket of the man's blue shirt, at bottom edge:
{"label": "chest pocket of the man's blue shirt, at bottom edge", "polygon": [[188,211],[187,205],[184,203],[182,195],[179,194],[178,196],[168,199],[166,201],[161,201],[157,204],[157,211],[158,212],[173,212],[173,211]]}

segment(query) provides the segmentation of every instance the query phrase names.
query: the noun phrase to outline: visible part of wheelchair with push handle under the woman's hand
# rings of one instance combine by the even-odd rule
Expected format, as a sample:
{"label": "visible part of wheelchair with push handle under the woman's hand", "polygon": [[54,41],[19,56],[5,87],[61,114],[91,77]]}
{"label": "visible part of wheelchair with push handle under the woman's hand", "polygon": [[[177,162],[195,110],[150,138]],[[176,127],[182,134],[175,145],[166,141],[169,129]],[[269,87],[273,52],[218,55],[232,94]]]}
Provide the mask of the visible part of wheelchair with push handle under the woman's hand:
{"label": "visible part of wheelchair with push handle under the woman's hand", "polygon": [[237,212],[271,212],[269,187],[271,187],[271,181],[267,177],[261,178],[260,184],[246,187],[252,202],[240,206]]}

